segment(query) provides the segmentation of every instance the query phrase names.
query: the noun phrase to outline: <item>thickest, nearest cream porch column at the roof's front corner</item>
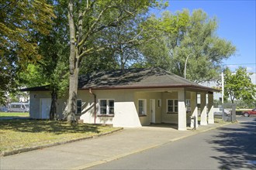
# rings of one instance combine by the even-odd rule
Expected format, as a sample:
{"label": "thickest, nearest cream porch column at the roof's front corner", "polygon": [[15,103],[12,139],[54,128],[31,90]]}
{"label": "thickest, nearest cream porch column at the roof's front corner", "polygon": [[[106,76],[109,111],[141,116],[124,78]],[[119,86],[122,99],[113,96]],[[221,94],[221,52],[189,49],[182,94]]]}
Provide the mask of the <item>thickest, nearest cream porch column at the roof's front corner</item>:
{"label": "thickest, nearest cream porch column at the roof's front corner", "polygon": [[178,130],[187,130],[185,90],[178,91]]}

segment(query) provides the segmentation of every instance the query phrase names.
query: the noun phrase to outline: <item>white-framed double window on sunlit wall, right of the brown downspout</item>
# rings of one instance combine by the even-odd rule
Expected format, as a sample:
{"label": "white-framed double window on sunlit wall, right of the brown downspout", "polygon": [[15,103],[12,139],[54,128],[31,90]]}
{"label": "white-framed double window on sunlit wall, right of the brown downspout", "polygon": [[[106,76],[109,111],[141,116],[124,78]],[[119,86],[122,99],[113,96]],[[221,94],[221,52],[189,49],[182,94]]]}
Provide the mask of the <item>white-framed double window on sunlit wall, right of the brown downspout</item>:
{"label": "white-framed double window on sunlit wall, right of the brown downspout", "polygon": [[114,114],[115,113],[114,100],[99,100],[99,114]]}

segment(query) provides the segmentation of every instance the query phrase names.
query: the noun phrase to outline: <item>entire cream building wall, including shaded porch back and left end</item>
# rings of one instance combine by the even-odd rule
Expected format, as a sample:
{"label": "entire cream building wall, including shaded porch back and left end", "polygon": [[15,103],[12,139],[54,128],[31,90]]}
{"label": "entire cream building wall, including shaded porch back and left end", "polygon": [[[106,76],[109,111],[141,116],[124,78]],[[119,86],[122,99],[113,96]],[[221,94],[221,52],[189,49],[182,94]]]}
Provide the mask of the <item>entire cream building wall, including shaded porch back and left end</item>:
{"label": "entire cream building wall, including shaded porch back and left end", "polygon": [[[167,113],[167,99],[178,99],[178,92],[162,92],[154,90],[92,90],[96,95],[96,104],[94,96],[89,90],[78,90],[78,99],[82,101],[81,115],[77,117],[89,124],[113,124],[114,127],[141,127],[141,125],[149,125],[151,123],[150,99],[155,100],[155,123],[178,123],[178,114]],[[190,98],[190,93],[186,93],[186,97]],[[50,98],[50,92],[30,92],[30,117],[41,118],[40,99]],[[99,100],[109,99],[115,100],[114,116],[99,116]],[[146,100],[146,115],[138,116],[138,100]],[[158,100],[160,104],[158,105]],[[66,107],[67,97],[57,100],[57,118],[64,117],[64,109]],[[95,107],[96,105],[96,118]],[[187,121],[189,121],[189,116]]]}

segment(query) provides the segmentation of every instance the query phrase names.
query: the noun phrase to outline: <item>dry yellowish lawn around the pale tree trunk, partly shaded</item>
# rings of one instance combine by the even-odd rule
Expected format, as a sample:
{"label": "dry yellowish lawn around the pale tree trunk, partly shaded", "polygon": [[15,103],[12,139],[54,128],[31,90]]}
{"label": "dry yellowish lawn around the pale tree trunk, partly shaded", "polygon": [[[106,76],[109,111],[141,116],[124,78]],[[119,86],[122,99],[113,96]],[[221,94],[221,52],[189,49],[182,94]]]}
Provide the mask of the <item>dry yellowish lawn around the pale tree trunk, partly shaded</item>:
{"label": "dry yellowish lawn around the pale tree trunk, partly shaded", "polygon": [[1,120],[0,153],[86,138],[116,129],[95,124],[72,126],[64,121]]}

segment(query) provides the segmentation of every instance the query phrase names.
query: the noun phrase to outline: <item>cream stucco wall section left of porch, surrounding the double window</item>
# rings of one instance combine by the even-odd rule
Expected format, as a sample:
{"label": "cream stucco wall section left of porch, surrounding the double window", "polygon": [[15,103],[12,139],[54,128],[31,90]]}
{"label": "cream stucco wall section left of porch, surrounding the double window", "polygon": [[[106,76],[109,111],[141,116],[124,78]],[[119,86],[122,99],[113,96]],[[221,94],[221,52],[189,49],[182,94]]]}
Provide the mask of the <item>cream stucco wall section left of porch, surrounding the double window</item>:
{"label": "cream stucco wall section left of porch, surrounding the double window", "polygon": [[[132,90],[93,90],[96,95],[96,114],[99,114],[99,100],[115,100],[114,117],[96,117],[96,124],[113,124],[114,127],[141,127]],[[85,97],[87,96],[87,97]],[[88,98],[89,97],[89,98]],[[85,110],[87,112],[81,115],[85,123],[94,123],[94,97],[88,91],[80,91],[78,98],[83,101],[89,101]]]}

